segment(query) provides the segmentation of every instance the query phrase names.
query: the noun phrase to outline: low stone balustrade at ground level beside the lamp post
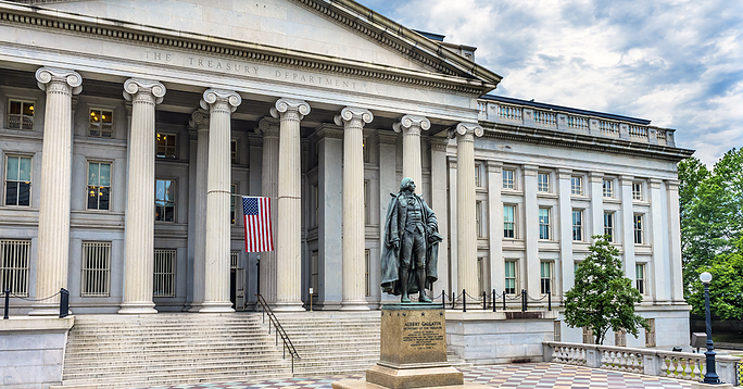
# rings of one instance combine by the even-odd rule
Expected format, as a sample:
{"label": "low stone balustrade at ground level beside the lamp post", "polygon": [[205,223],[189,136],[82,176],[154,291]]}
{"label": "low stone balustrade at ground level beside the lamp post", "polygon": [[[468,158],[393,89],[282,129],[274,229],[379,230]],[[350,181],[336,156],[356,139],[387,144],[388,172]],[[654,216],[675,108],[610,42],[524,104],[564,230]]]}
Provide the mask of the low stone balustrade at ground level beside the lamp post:
{"label": "low stone balustrade at ground level beside the lamp post", "polygon": [[[655,349],[543,342],[544,361],[607,371],[701,381],[704,378],[703,353],[672,352]],[[723,382],[734,382],[738,356],[717,355],[717,374]]]}

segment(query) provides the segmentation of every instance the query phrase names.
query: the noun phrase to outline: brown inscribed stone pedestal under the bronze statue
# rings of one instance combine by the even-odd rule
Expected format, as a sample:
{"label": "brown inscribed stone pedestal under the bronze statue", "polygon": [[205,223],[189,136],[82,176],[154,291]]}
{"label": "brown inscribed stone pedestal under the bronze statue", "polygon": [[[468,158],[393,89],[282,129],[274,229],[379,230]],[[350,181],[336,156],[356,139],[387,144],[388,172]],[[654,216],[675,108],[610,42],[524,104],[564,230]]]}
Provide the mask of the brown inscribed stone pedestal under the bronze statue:
{"label": "brown inscribed stone pedestal under the bronze statue", "polygon": [[333,389],[487,388],[465,384],[446,361],[446,319],[441,304],[385,304],[379,363],[366,380],[342,380]]}

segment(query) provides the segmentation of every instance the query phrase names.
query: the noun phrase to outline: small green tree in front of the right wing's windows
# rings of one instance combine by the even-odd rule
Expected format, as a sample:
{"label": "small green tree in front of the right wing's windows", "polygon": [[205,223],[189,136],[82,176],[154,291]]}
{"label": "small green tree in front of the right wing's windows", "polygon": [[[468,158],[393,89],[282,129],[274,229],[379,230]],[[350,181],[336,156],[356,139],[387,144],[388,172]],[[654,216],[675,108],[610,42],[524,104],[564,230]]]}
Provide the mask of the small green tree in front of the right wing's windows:
{"label": "small green tree in front of the right wing's windows", "polygon": [[619,250],[605,235],[593,237],[591,253],[576,269],[576,284],[565,293],[565,323],[570,327],[588,327],[595,343],[602,344],[606,332],[626,329],[634,337],[638,327],[650,329],[647,322],[634,314],[642,296],[625,277]]}

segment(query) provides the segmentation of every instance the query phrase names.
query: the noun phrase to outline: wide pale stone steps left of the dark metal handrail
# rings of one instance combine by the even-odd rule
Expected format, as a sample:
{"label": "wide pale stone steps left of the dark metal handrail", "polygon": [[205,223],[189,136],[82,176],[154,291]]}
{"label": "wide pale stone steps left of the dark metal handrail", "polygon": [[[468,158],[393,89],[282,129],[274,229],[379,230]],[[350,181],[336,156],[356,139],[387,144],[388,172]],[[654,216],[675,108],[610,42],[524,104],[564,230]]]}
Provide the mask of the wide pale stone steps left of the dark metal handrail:
{"label": "wide pale stone steps left of the dark metal handrail", "polygon": [[63,388],[131,388],[291,377],[261,315],[85,315],[67,338]]}

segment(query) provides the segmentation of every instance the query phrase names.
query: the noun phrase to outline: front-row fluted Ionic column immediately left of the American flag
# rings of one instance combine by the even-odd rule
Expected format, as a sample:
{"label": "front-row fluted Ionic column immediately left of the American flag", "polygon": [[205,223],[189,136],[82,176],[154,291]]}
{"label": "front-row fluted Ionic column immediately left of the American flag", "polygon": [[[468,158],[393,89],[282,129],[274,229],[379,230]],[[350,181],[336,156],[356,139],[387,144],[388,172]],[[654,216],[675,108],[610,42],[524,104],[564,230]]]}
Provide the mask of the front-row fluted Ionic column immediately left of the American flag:
{"label": "front-row fluted Ionic column immediately left of the American flag", "polygon": [[204,302],[201,313],[235,312],[229,301],[230,116],[242,98],[235,91],[207,89],[201,108],[209,109],[206,175],[206,249]]}

